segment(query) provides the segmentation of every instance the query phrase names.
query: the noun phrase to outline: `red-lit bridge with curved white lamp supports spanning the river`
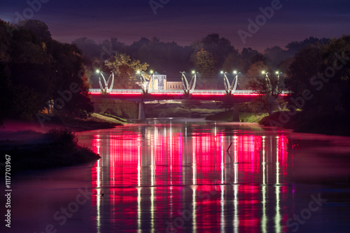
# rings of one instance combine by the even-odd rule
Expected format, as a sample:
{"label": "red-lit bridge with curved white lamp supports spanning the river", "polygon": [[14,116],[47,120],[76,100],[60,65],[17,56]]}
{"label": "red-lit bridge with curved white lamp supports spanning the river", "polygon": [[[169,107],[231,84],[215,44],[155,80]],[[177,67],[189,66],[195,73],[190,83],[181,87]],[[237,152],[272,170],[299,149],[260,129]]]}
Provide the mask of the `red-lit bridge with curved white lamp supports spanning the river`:
{"label": "red-lit bridge with curved white lamp supports spanning the river", "polygon": [[[235,77],[230,82],[226,73],[223,72],[223,83],[225,90],[196,90],[197,73],[193,73],[190,82],[188,82],[185,72],[181,72],[181,89],[165,89],[163,81],[165,75],[155,75],[152,73],[147,80],[143,73],[139,73],[141,89],[113,89],[114,73],[111,73],[108,80],[102,73],[99,76],[100,89],[89,89],[91,98],[93,99],[115,99],[115,100],[133,100],[139,102],[139,119],[145,119],[144,102],[153,100],[216,100],[230,101],[234,104],[234,119],[238,119],[237,103],[249,102],[260,96],[253,90],[237,90],[238,75],[234,72]],[[267,73],[265,80],[269,91],[274,92]],[[279,77],[279,76],[278,76]],[[109,82],[111,80],[111,82]],[[155,88],[160,87],[160,89]],[[277,89],[276,89],[277,90]],[[282,91],[280,96],[288,96],[288,91]],[[235,106],[236,105],[236,106]],[[239,120],[239,119],[238,119]]]}

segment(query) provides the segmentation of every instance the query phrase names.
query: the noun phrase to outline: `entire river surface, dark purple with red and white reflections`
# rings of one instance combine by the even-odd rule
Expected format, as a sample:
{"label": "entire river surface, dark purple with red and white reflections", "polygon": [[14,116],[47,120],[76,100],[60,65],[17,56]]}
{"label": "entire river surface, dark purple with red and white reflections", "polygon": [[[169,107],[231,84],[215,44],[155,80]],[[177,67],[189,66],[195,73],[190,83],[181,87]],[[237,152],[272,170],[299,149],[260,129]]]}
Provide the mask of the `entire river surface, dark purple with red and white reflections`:
{"label": "entire river surface, dark purple with red and white reflections", "polygon": [[14,177],[11,232],[350,232],[349,137],[158,119],[78,138],[102,158]]}

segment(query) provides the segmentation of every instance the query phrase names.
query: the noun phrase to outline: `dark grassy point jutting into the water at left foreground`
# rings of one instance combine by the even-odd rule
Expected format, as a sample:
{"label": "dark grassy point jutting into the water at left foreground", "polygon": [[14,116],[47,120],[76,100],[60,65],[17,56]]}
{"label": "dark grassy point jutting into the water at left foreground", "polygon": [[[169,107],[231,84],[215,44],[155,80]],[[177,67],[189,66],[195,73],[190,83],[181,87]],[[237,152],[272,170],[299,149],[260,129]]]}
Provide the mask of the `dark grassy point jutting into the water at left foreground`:
{"label": "dark grassy point jutting into the water at left foreground", "polygon": [[76,135],[67,128],[50,130],[45,134],[19,131],[12,133],[10,137],[15,137],[15,134],[20,136],[23,133],[27,133],[28,137],[32,136],[34,140],[0,141],[0,153],[10,156],[11,173],[79,165],[100,158],[90,149],[79,146]]}

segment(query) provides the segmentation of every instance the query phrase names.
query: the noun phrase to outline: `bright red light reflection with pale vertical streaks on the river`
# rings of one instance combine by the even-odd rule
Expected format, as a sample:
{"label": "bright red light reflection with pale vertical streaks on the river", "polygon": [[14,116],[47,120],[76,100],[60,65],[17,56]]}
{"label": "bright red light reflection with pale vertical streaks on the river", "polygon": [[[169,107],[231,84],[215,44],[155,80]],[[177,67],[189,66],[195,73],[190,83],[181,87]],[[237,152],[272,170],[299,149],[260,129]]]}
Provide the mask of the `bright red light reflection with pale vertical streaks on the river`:
{"label": "bright red light reflection with pale vertical streaks on the river", "polygon": [[[93,151],[102,156],[92,170],[97,225],[104,225],[101,208],[107,205],[108,224],[136,229],[166,230],[166,222],[180,210],[191,216],[183,223],[186,229],[217,232],[224,226],[235,232],[260,232],[273,219],[276,230],[281,230],[286,215],[281,202],[288,187],[265,184],[285,182],[286,135],[225,136],[223,130],[197,129],[188,136],[183,131],[160,125],[147,127],[144,133],[94,136]],[[102,199],[101,188],[109,203]],[[266,206],[271,198],[273,210]]]}

